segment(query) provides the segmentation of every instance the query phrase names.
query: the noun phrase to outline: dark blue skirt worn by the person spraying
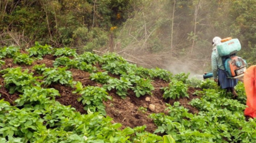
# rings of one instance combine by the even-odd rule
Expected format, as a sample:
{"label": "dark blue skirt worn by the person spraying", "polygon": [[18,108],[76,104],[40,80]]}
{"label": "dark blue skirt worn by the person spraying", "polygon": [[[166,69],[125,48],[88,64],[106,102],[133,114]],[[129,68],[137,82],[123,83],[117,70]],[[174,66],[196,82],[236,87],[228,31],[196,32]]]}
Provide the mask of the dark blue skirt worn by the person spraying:
{"label": "dark blue skirt worn by the person spraying", "polygon": [[225,70],[218,69],[218,86],[221,86],[222,89],[228,87],[235,87],[238,83],[238,79],[227,78],[227,73]]}

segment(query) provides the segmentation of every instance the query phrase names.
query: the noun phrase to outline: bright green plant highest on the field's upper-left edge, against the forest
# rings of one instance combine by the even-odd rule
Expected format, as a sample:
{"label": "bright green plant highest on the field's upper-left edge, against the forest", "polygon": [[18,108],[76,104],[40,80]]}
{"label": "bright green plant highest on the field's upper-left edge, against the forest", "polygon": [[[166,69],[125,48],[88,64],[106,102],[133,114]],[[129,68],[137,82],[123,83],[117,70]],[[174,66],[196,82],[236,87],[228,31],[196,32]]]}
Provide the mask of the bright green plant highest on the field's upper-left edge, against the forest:
{"label": "bright green plant highest on the field's upper-left edge, against the forest", "polygon": [[45,44],[45,46],[40,45],[38,42],[35,42],[35,46],[26,49],[29,52],[29,57],[38,57],[42,59],[42,57],[46,54],[52,54],[52,47]]}

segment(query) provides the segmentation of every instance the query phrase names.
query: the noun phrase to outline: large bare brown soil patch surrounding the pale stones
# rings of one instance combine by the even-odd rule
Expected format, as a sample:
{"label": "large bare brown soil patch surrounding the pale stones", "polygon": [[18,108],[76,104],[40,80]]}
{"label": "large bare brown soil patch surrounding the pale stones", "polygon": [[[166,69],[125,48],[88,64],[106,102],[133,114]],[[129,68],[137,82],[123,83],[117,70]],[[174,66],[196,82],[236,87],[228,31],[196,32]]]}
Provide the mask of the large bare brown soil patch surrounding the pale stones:
{"label": "large bare brown soil patch surrounding the pale stones", "polygon": [[[154,121],[148,117],[152,113],[165,112],[165,102],[163,101],[162,92],[160,87],[165,87],[166,84],[163,80],[156,80],[152,82],[155,90],[152,91],[152,96],[146,95],[140,98],[136,97],[132,90],[128,91],[129,94],[126,99],[118,96],[114,90],[111,90],[110,95],[113,97],[112,101],[105,102],[107,115],[113,118],[113,122],[122,123],[123,128],[129,126],[134,128],[136,126],[146,125],[146,131],[153,133],[157,126]],[[150,102],[145,101],[149,97]],[[152,112],[148,109],[149,104],[155,105],[155,111]],[[140,111],[140,107],[147,109],[145,113]]]}

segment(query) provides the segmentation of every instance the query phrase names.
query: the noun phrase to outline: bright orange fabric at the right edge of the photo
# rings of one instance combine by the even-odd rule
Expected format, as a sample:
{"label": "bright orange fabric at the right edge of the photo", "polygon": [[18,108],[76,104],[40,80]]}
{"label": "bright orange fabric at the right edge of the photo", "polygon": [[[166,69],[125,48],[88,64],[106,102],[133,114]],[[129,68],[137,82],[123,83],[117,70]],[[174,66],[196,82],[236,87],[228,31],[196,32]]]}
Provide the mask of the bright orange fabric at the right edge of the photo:
{"label": "bright orange fabric at the right edge of the photo", "polygon": [[244,73],[244,89],[246,92],[245,116],[256,117],[256,66],[250,66]]}

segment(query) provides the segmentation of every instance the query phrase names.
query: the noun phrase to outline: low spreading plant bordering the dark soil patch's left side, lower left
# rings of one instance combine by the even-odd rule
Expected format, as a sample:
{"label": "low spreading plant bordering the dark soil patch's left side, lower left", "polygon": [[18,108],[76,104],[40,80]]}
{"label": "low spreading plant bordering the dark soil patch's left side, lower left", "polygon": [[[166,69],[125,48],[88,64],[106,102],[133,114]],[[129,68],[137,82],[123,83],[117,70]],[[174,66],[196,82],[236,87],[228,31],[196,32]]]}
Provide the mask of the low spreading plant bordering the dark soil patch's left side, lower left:
{"label": "low spreading plant bordering the dark soil patch's left side, lower left", "polygon": [[17,106],[29,105],[47,105],[50,99],[54,100],[55,96],[60,96],[56,89],[43,89],[41,87],[34,86],[31,89],[25,89],[23,95],[15,100]]}

